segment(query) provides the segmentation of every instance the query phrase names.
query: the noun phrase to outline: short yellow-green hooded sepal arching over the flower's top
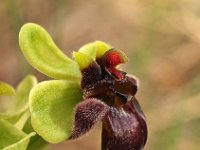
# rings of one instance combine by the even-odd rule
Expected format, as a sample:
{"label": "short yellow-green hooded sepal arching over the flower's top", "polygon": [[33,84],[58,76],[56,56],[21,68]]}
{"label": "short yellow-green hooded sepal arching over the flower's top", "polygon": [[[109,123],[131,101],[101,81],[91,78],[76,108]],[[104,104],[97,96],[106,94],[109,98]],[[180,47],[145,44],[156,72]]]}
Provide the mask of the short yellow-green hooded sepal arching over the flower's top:
{"label": "short yellow-green hooded sepal arching over the flower's top", "polygon": [[96,58],[102,57],[103,54],[111,48],[112,47],[110,45],[102,41],[95,41],[82,46],[79,49],[79,52],[82,52],[91,57],[93,60],[96,60]]}

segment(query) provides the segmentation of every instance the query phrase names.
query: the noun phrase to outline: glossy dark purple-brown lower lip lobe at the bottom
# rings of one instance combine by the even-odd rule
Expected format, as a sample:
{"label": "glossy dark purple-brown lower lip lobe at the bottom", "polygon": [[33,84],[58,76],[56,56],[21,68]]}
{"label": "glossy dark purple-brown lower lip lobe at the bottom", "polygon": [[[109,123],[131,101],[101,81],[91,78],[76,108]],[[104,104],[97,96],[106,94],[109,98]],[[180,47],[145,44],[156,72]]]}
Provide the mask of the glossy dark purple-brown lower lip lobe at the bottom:
{"label": "glossy dark purple-brown lower lip lobe at the bottom", "polygon": [[141,150],[147,140],[145,118],[134,97],[120,108],[110,107],[103,120],[103,150]]}

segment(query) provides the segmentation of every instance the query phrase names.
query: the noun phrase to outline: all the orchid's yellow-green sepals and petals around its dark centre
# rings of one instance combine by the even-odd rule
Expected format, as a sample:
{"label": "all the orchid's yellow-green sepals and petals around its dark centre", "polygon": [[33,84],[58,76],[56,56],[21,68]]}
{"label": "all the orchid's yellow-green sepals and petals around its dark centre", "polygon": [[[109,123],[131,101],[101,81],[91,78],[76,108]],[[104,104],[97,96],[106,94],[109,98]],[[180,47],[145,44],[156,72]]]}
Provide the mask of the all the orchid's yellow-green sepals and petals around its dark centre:
{"label": "all the orchid's yellow-green sepals and petals around its dark centre", "polygon": [[95,41],[74,52],[75,61],[55,45],[41,26],[25,24],[19,33],[27,61],[54,79],[39,83],[30,93],[29,108],[34,130],[50,143],[68,139],[73,129],[74,107],[82,100],[81,69],[101,57],[110,45]]}

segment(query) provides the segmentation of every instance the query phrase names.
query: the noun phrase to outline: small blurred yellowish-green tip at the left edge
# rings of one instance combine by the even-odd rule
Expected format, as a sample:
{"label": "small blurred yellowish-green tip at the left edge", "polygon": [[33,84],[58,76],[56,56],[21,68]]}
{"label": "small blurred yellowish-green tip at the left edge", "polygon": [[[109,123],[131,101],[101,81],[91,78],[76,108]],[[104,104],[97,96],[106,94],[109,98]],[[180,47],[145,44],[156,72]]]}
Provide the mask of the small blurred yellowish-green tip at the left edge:
{"label": "small blurred yellowish-green tip at the left edge", "polygon": [[14,93],[15,93],[15,90],[13,89],[12,86],[0,81],[0,96],[1,95],[13,95]]}

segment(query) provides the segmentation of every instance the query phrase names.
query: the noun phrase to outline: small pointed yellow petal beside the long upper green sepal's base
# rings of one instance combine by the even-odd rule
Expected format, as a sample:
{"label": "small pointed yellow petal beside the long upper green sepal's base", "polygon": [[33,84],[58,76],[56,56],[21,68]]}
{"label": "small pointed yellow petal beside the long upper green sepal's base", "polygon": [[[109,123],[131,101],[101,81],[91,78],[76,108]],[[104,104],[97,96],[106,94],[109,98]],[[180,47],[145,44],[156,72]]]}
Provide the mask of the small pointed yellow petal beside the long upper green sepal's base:
{"label": "small pointed yellow petal beside the long upper green sepal's base", "polygon": [[73,52],[73,57],[81,70],[87,68],[93,62],[91,57],[81,52]]}

